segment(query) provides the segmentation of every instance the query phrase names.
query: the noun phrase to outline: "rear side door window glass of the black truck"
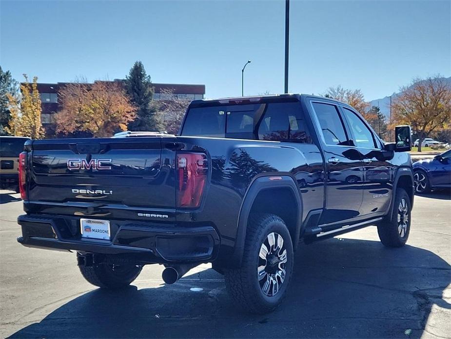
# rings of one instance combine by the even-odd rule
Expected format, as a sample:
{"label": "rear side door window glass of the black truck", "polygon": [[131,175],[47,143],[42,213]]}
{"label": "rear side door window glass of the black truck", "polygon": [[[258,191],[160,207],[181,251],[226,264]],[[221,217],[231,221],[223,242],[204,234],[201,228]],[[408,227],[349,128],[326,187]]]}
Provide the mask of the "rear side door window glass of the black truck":
{"label": "rear side door window glass of the black truck", "polygon": [[312,103],[327,145],[349,145],[338,107],[330,104]]}

